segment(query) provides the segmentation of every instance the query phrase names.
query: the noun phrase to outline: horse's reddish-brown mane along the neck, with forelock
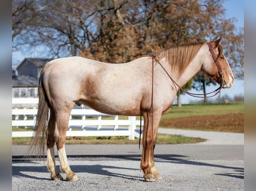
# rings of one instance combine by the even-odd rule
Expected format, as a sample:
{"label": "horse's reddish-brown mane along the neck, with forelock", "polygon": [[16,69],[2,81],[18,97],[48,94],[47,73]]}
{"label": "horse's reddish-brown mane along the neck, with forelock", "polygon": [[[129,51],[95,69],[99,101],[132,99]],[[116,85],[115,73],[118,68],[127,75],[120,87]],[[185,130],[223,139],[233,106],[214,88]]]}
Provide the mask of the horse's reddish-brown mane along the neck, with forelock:
{"label": "horse's reddish-brown mane along the neck, with forelock", "polygon": [[[166,48],[162,51],[154,53],[154,56],[157,60],[165,57],[166,61],[169,62],[171,68],[177,73],[182,74],[189,63],[196,57],[199,50],[203,46],[203,42],[201,43],[190,43],[185,45],[178,45]],[[222,47],[219,44],[219,56],[222,54]]]}

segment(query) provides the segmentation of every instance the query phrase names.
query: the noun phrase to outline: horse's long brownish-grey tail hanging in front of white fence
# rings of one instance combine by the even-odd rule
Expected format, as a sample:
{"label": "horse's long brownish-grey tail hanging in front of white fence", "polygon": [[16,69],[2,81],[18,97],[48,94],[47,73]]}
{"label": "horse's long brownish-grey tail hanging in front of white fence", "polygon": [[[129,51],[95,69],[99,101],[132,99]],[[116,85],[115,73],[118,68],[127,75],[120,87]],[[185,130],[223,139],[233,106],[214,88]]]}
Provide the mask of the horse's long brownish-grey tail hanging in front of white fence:
{"label": "horse's long brownish-grey tail hanging in front of white fence", "polygon": [[27,157],[31,157],[33,154],[36,158],[44,157],[45,145],[48,137],[48,110],[49,101],[45,93],[43,85],[43,70],[40,74],[39,84],[38,84],[38,110],[36,115],[36,120],[34,123],[33,137],[30,141],[30,145],[27,151]]}

